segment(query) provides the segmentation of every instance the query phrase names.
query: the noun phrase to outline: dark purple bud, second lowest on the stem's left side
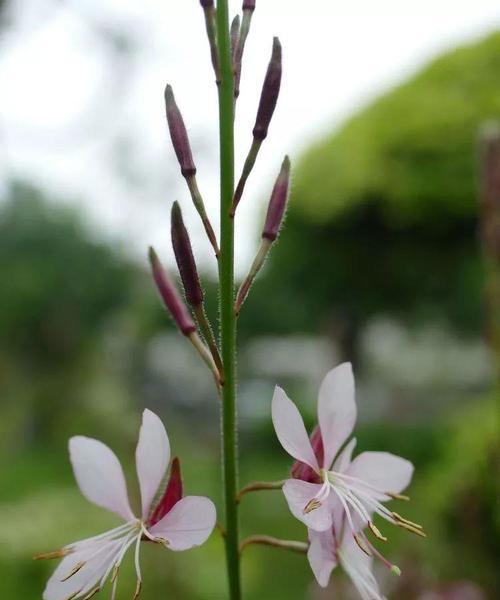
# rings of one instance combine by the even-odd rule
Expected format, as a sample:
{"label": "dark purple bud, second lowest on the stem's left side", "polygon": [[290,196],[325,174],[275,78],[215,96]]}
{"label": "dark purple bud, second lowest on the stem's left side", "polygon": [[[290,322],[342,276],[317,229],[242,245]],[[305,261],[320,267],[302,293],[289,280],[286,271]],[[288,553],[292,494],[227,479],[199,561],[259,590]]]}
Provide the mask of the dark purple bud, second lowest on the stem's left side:
{"label": "dark purple bud, second lowest on the stem's left side", "polygon": [[171,215],[172,246],[179,268],[186,300],[191,306],[200,306],[203,302],[198,270],[193,256],[189,234],[182,219],[181,207],[174,202]]}

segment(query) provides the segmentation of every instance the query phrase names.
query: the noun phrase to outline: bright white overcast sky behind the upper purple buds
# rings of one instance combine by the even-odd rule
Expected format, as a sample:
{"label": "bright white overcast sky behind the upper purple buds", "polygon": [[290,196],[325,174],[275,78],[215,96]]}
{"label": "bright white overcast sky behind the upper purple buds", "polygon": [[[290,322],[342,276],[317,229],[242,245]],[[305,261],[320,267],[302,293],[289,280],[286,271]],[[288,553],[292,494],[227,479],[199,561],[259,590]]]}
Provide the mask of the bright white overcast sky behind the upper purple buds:
{"label": "bright white overcast sky behind the upper purple buds", "polygon": [[[240,5],[231,2],[233,13]],[[216,91],[198,0],[17,0],[10,20],[0,38],[0,185],[12,175],[27,178],[88,209],[99,234],[141,257],[153,243],[166,259],[168,214],[178,198],[195,251],[209,260],[163,107],[168,80],[216,225]],[[238,104],[238,169],[275,34],[284,46],[284,80],[239,209],[240,272],[285,153],[293,160],[439,52],[499,26],[498,0],[257,0]],[[126,39],[130,52],[110,53],[102,30]]]}

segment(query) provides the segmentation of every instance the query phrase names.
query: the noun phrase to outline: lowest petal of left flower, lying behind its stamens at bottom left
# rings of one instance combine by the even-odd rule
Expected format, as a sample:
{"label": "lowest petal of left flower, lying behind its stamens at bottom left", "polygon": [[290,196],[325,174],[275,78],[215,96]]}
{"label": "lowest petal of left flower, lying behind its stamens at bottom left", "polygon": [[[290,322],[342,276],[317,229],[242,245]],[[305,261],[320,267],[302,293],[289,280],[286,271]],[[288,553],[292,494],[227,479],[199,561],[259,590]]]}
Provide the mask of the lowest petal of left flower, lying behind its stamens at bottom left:
{"label": "lowest petal of left flower, lying behind its stamens at bottom left", "polygon": [[[43,593],[44,600],[81,598],[99,584],[121,548],[121,540],[104,541],[66,556],[57,566]],[[74,575],[80,563],[85,563]],[[62,580],[65,581],[62,581]],[[76,595],[74,595],[76,594]]]}

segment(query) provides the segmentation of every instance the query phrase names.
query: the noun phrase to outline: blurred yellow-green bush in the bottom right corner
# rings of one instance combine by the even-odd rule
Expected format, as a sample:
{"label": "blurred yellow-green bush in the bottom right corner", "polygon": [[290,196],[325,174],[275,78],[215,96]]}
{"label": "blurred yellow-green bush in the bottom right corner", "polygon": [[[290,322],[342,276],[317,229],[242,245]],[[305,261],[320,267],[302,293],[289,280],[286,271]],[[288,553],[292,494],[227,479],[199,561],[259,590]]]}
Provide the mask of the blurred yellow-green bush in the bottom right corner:
{"label": "blurred yellow-green bush in the bottom right corner", "polygon": [[422,552],[434,572],[456,577],[460,557],[464,579],[497,593],[499,400],[498,393],[478,398],[456,413],[441,431],[442,451],[419,479],[413,498],[429,536]]}

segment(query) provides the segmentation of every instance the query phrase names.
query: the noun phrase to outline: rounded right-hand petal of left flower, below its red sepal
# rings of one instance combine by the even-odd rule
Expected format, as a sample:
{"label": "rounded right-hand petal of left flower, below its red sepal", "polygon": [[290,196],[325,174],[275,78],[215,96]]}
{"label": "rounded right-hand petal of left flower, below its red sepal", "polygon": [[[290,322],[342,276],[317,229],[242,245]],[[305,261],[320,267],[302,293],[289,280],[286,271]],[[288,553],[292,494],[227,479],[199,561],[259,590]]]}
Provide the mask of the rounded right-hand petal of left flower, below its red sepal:
{"label": "rounded right-hand petal of left flower, below its red sepal", "polygon": [[215,506],[211,500],[202,496],[186,496],[149,532],[167,540],[170,550],[189,550],[207,540],[215,527],[215,519]]}

